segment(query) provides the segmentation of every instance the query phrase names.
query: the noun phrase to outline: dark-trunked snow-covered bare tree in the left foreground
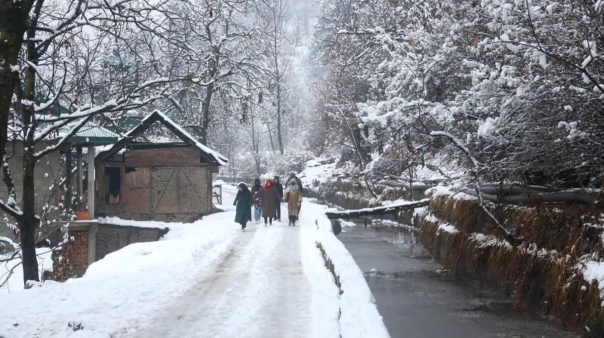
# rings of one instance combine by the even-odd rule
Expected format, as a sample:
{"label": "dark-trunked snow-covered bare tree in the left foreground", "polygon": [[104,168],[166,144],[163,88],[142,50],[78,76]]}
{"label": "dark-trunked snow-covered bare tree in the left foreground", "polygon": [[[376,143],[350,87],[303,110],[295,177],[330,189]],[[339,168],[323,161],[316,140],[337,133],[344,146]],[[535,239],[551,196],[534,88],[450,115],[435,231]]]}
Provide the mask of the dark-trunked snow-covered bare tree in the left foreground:
{"label": "dark-trunked snow-covered bare tree in the left foreground", "polygon": [[[165,98],[173,81],[208,84],[167,69],[172,51],[191,51],[184,36],[170,31],[174,19],[169,1],[0,2],[0,156],[8,190],[0,210],[18,225],[24,281],[39,278],[36,163],[86,123],[116,120]],[[65,110],[53,113],[58,104]],[[8,164],[11,140],[22,140],[22,167]],[[22,186],[14,184],[15,170],[23,171]]]}

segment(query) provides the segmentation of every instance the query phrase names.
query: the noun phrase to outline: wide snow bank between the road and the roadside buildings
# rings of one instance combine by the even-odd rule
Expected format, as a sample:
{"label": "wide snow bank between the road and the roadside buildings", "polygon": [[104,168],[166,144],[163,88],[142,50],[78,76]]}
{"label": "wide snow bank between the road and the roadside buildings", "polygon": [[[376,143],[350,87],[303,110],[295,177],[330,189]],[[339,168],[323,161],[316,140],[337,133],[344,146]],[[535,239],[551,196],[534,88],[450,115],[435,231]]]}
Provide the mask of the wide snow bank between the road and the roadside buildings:
{"label": "wide snow bank between the road and the roadside buildings", "polygon": [[[233,208],[234,191],[223,190],[226,210]],[[136,330],[230,248],[238,232],[228,226],[234,225],[232,218],[233,213],[217,213],[193,224],[167,224],[170,232],[158,242],[112,252],[82,278],[0,296],[1,304],[10,304],[2,307],[0,335],[107,338]]]}

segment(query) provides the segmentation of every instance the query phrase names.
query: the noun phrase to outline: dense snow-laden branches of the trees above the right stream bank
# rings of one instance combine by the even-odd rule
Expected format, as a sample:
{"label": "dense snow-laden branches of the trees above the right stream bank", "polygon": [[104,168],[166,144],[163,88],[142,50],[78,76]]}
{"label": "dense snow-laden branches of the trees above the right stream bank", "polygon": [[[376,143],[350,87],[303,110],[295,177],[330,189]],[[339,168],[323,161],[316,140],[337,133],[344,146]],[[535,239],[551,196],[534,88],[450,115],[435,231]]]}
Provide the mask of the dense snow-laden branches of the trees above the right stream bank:
{"label": "dense snow-laden branches of the trees above the right stream bank", "polygon": [[[356,89],[367,89],[338,96],[356,103],[350,120],[366,130],[354,143],[367,152],[444,154],[469,170],[476,160],[490,181],[599,187],[601,7],[326,0],[318,58],[338,86],[353,79]],[[458,142],[434,139],[435,131]]]}

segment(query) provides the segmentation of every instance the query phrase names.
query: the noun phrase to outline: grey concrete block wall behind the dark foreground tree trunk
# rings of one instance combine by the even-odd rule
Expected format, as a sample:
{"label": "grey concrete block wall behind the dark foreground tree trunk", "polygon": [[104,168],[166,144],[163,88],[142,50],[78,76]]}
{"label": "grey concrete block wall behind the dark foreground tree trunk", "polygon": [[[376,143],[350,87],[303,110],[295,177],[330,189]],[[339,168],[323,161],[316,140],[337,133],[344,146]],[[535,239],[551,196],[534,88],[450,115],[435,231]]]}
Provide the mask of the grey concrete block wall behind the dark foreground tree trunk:
{"label": "grey concrete block wall behind the dark foreground tree trunk", "polygon": [[[42,149],[45,146],[46,145],[44,143],[40,143],[38,148]],[[8,160],[8,165],[10,166],[11,175],[13,176],[13,182],[17,193],[17,202],[21,204],[23,194],[23,143],[21,141],[16,141],[14,144],[14,150],[13,146],[9,145],[7,147],[7,155],[13,155]],[[52,206],[59,204],[59,180],[63,171],[64,169],[61,166],[59,151],[47,155],[36,164],[34,175],[36,177],[35,186],[37,195],[37,210],[41,211],[42,207],[47,204],[47,202],[49,202],[49,204]],[[2,182],[0,183],[0,199],[2,199],[2,201],[7,201],[7,198],[8,190],[4,182]],[[43,216],[43,221],[46,221],[47,219],[52,221],[57,217],[57,215],[57,211],[48,213]],[[1,211],[0,216],[1,218],[4,218],[4,213]],[[14,223],[14,220],[11,219],[10,222]],[[0,225],[0,236],[14,239],[12,231],[3,225],[4,224]]]}

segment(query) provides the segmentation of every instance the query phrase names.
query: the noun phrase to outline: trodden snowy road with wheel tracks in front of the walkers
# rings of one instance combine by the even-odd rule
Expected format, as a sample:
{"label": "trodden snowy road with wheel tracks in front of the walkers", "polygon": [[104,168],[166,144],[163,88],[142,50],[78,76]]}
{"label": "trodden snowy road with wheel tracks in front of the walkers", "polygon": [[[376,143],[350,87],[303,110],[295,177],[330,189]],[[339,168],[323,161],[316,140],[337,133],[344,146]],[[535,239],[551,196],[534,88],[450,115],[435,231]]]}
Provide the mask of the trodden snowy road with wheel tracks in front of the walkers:
{"label": "trodden snowy road with wheel tracks in front of the walkers", "polygon": [[248,226],[196,286],[123,337],[309,337],[300,227]]}

